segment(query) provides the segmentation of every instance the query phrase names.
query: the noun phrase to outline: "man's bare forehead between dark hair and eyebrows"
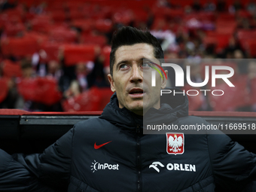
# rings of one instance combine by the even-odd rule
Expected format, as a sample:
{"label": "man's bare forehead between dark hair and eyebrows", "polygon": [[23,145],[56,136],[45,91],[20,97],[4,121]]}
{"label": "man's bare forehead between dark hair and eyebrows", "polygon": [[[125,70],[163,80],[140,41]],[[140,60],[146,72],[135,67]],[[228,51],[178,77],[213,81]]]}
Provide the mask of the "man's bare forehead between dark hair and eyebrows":
{"label": "man's bare forehead between dark hair and eyebrows", "polygon": [[151,44],[123,45],[115,52],[115,63],[120,61],[133,61],[142,58],[156,59],[154,57],[154,47]]}

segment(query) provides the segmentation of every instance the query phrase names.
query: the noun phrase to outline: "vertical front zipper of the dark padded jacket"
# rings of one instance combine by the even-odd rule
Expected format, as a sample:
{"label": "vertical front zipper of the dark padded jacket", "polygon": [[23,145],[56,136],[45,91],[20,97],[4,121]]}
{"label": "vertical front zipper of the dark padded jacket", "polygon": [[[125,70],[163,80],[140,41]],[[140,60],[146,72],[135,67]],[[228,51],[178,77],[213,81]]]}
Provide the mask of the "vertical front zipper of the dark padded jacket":
{"label": "vertical front zipper of the dark padded jacket", "polygon": [[137,158],[136,158],[136,164],[137,164],[137,191],[142,191],[141,187],[141,149],[140,149],[140,126],[136,126],[136,151],[137,151]]}

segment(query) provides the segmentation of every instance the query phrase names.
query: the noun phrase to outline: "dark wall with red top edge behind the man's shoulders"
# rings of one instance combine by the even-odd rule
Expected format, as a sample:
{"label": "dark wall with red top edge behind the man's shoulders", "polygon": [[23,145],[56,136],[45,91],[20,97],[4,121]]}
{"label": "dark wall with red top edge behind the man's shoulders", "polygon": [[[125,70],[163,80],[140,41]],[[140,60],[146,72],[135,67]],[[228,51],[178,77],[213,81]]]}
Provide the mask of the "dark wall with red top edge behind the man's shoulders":
{"label": "dark wall with red top edge behind the man's shoulders", "polygon": [[[10,113],[11,111],[11,113]],[[99,117],[101,112],[82,113],[25,113],[12,110],[0,111],[0,148],[9,154],[41,153],[59,137],[68,132],[81,120]],[[190,111],[190,115],[200,116],[212,124],[256,123],[256,113],[252,112],[207,112]],[[250,134],[230,132],[231,139],[256,154],[256,130]],[[239,133],[239,134],[233,134]]]}

